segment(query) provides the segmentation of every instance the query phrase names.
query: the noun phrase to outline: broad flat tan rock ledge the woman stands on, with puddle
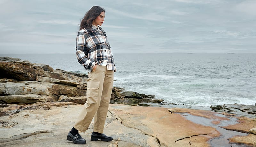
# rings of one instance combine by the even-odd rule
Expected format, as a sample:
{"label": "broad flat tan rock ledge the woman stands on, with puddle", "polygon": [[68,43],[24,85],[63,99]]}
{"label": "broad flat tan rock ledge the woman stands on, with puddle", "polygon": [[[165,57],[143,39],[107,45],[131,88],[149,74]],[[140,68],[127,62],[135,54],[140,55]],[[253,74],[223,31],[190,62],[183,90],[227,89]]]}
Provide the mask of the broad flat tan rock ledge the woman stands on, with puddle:
{"label": "broad flat tan rock ledge the woman stands on, with puddle", "polygon": [[[0,117],[0,146],[74,146],[66,140],[83,104],[71,102],[10,104]],[[90,141],[86,147],[241,147],[256,146],[256,119],[207,110],[110,104],[104,133],[113,141]]]}

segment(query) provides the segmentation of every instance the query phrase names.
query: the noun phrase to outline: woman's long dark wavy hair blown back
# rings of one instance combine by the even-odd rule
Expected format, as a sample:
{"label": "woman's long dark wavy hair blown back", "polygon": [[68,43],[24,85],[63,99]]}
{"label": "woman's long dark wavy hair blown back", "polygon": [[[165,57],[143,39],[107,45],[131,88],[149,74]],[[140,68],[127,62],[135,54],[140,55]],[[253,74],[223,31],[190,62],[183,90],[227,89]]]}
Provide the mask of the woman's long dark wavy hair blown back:
{"label": "woman's long dark wavy hair blown back", "polygon": [[83,28],[89,28],[92,26],[92,21],[96,19],[101,12],[105,12],[100,6],[93,6],[89,11],[87,11],[84,17],[81,19],[80,30]]}

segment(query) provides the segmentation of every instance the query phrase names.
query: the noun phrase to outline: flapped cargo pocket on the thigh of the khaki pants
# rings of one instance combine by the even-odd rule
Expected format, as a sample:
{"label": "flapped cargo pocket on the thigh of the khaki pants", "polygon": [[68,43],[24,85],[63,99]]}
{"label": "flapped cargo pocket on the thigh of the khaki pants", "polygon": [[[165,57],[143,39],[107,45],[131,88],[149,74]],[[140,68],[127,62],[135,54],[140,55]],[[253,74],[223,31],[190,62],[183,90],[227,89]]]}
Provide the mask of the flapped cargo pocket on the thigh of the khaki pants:
{"label": "flapped cargo pocket on the thigh of the khaki pants", "polygon": [[96,104],[99,96],[99,81],[88,81],[87,82],[87,91],[86,91],[86,102],[88,104]]}

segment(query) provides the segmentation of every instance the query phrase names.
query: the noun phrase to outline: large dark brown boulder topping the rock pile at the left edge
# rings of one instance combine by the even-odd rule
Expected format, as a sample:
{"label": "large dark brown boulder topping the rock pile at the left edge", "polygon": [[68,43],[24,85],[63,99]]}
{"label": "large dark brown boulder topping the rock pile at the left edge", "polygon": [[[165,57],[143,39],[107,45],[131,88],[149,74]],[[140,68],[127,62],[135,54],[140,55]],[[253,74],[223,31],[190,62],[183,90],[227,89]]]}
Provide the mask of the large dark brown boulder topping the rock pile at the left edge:
{"label": "large dark brown boulder topping the rock pile at the left edge", "polygon": [[34,68],[28,65],[0,61],[0,73],[2,78],[12,78],[20,81],[35,81],[36,72]]}

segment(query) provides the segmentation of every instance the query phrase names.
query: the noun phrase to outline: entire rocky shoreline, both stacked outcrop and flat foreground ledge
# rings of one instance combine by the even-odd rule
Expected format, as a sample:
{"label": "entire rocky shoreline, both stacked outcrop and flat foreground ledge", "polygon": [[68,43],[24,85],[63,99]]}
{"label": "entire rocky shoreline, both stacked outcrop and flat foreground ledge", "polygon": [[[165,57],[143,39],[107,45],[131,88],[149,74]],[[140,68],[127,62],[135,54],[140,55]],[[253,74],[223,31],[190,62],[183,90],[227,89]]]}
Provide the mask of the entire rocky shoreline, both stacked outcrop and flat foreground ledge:
{"label": "entire rocky shoreline, both stacked outcrop and flat foreground ledge", "polygon": [[[65,137],[72,111],[86,101],[87,75],[10,57],[0,57],[0,73],[0,146],[73,146]],[[119,87],[110,103],[104,130],[114,140],[86,146],[256,146],[255,105],[168,109],[162,99]],[[81,134],[86,140],[92,126]]]}

